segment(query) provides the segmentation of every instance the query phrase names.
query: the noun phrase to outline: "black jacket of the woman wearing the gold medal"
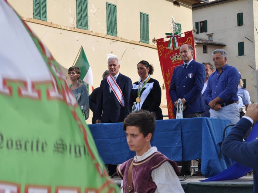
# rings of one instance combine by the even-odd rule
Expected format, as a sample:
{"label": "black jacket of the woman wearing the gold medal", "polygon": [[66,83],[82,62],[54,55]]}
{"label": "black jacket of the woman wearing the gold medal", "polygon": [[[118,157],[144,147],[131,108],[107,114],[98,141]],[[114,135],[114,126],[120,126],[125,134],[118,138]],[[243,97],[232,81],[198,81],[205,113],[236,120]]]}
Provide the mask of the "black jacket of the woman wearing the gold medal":
{"label": "black jacket of the woman wearing the gold medal", "polygon": [[[139,85],[139,82],[135,82],[134,85]],[[141,90],[141,94],[144,92],[147,86],[152,86],[150,93],[142,103],[141,109],[148,110],[150,112],[156,113],[157,119],[163,119],[162,111],[160,106],[161,103],[161,88],[159,86],[158,80],[151,78],[145,87]],[[133,107],[133,103],[135,102],[138,95],[138,89],[132,89],[130,95],[130,108]]]}

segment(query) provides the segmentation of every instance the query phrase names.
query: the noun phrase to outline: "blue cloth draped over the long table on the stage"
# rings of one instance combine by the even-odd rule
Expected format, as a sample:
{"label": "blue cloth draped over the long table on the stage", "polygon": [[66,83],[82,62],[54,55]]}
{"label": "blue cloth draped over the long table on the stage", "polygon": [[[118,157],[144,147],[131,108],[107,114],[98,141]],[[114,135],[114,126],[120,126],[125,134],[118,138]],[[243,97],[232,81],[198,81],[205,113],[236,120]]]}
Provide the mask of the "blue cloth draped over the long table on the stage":
{"label": "blue cloth draped over the long table on the stage", "polygon": [[[151,145],[175,161],[201,158],[202,173],[206,177],[213,176],[233,164],[226,156],[218,158],[218,144],[229,124],[229,120],[213,118],[157,120]],[[135,152],[130,151],[126,142],[123,123],[88,126],[104,163],[120,164],[134,157]]]}

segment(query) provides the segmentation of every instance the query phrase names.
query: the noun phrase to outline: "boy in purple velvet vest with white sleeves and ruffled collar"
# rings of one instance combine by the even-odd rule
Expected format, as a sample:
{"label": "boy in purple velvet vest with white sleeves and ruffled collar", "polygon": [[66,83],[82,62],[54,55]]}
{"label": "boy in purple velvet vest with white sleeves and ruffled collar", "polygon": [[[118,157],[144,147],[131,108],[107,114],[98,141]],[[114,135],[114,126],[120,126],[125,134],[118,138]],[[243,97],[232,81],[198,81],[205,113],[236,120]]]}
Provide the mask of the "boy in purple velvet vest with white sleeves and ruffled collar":
{"label": "boy in purple velvet vest with white sleeves and ruffled collar", "polygon": [[146,110],[132,112],[124,119],[127,144],[136,156],[117,166],[121,192],[184,192],[175,161],[151,147],[155,124],[154,113]]}

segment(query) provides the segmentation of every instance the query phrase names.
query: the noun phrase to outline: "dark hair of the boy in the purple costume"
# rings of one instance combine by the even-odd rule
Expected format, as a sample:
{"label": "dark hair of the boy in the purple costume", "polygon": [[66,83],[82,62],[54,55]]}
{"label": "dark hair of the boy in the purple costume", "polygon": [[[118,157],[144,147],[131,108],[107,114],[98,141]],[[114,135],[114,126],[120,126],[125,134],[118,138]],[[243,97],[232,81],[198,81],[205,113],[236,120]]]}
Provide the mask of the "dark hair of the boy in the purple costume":
{"label": "dark hair of the boy in the purple costume", "polygon": [[146,137],[149,133],[153,136],[156,125],[155,113],[147,110],[137,110],[130,113],[124,119],[123,130],[126,131],[127,126],[139,127],[140,133]]}

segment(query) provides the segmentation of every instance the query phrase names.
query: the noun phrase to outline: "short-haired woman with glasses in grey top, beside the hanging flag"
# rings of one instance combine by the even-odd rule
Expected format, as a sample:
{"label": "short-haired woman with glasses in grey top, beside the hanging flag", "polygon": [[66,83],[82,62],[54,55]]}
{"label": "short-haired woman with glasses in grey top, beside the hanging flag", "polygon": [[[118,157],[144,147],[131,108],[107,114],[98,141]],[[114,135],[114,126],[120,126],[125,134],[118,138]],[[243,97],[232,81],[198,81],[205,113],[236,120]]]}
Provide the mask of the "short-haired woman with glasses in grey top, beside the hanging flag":
{"label": "short-haired woman with glasses in grey top, beside the hanging flag", "polygon": [[72,81],[70,89],[72,90],[77,103],[79,106],[83,106],[85,113],[85,120],[89,118],[90,105],[89,105],[89,96],[86,89],[86,86],[78,82],[78,79],[81,75],[81,70],[77,66],[72,66],[68,69],[69,78]]}

